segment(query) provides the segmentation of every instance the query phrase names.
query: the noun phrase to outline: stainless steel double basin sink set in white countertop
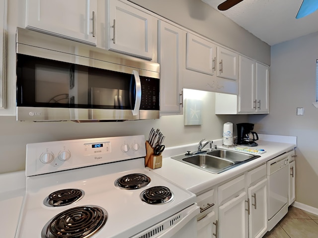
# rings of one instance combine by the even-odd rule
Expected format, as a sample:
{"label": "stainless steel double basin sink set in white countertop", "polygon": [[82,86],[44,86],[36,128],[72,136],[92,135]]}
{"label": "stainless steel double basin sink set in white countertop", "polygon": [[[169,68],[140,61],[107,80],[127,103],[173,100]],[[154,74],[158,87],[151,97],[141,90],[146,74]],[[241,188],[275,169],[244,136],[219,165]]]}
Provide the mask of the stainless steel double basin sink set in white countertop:
{"label": "stainless steel double basin sink set in white countertop", "polygon": [[259,157],[259,155],[217,149],[212,151],[201,151],[195,154],[187,153],[172,156],[171,158],[210,173],[219,174]]}

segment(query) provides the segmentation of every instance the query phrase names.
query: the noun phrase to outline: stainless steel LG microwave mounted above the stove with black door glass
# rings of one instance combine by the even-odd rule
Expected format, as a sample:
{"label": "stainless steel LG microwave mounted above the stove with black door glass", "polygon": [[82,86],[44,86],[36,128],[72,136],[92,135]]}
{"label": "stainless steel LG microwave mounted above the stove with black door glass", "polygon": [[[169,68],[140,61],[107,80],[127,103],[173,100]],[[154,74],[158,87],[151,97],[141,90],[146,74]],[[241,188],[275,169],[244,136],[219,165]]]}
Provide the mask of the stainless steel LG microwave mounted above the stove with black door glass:
{"label": "stainless steel LG microwave mounted above the stove with black door glass", "polygon": [[159,64],[17,28],[16,119],[159,118]]}

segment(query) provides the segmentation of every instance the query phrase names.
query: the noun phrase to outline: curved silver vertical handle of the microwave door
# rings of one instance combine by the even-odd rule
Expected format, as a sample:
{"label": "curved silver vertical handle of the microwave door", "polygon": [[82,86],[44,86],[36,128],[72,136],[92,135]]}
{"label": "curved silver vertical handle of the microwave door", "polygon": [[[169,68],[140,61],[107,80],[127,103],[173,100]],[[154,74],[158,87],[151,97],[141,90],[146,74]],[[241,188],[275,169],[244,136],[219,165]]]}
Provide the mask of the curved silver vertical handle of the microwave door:
{"label": "curved silver vertical handle of the microwave door", "polygon": [[133,70],[133,75],[130,82],[130,103],[132,105],[132,114],[137,116],[139,114],[140,104],[141,104],[141,82],[139,73]]}

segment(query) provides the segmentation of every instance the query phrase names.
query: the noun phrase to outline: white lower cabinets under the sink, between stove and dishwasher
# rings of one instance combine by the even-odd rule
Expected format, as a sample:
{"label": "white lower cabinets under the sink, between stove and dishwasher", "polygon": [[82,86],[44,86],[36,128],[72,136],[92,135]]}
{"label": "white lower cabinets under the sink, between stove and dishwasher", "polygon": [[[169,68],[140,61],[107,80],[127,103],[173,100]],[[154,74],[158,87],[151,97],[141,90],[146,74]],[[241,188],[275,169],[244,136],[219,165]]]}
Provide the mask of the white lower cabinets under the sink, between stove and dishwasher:
{"label": "white lower cabinets under the sink, between stove and dishwasher", "polygon": [[267,232],[267,184],[263,164],[217,186],[216,206],[198,221],[198,238],[263,237]]}

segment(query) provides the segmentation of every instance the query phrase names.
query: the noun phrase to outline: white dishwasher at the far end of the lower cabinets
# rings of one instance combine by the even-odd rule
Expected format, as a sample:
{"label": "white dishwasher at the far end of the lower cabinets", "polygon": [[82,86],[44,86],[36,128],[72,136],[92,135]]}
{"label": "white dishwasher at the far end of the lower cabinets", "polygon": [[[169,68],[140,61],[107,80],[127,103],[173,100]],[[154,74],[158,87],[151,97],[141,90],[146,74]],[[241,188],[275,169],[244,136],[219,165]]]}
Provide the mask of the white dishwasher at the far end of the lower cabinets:
{"label": "white dishwasher at the far end of the lower cabinets", "polygon": [[288,212],[288,157],[285,153],[267,162],[268,231]]}

